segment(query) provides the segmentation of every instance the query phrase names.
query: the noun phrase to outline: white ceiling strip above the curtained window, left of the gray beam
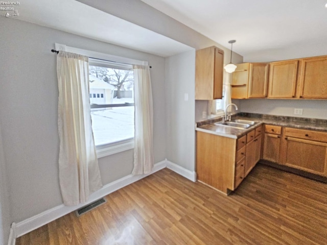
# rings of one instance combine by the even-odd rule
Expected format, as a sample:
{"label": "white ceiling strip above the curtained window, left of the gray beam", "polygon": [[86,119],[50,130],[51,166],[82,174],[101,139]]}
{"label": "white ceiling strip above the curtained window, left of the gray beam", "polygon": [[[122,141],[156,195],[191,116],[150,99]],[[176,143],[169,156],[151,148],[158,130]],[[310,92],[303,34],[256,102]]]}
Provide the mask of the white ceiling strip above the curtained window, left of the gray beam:
{"label": "white ceiling strip above the curtained window, left of the gray beam", "polygon": [[17,18],[20,20],[162,57],[192,50],[171,38],[75,0],[24,0],[15,9],[19,11]]}

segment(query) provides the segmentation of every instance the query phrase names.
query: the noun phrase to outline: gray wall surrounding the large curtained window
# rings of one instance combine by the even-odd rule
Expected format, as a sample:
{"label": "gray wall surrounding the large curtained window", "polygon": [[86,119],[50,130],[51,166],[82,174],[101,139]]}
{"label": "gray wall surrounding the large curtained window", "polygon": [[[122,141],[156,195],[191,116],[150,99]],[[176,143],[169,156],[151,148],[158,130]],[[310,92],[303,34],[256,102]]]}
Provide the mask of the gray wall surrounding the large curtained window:
{"label": "gray wall surrounding the large curtained window", "polygon": [[[154,159],[166,157],[165,59],[128,48],[2,18],[0,124],[10,193],[11,222],[62,204],[58,179],[58,88],[54,43],[152,65]],[[133,151],[101,158],[103,184],[129,175]]]}

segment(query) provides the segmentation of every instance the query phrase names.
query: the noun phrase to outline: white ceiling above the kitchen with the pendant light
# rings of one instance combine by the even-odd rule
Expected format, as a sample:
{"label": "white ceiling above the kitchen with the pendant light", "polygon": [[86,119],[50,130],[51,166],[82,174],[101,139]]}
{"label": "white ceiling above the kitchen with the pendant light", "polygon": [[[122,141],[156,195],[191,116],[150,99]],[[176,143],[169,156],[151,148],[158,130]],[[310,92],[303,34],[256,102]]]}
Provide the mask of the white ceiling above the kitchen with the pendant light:
{"label": "white ceiling above the kitchen with the pendant light", "polygon": [[327,42],[327,0],[141,1],[242,56]]}

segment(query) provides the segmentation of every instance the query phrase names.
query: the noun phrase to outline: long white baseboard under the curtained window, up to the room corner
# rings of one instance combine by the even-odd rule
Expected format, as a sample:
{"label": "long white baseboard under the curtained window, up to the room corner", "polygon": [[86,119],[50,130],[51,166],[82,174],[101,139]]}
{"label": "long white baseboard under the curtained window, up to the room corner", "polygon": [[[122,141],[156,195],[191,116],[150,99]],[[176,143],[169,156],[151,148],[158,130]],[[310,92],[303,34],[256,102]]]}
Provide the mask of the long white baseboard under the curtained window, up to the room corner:
{"label": "long white baseboard under the curtained window, up to the room corner", "polygon": [[[103,186],[100,190],[96,191],[95,193],[92,193],[90,195],[89,201],[87,203],[83,203],[83,204],[80,204],[78,206],[73,206],[73,207],[65,206],[62,204],[62,205],[59,205],[52,209],[46,210],[35,216],[32,216],[28,219],[25,219],[21,222],[18,222],[15,226],[15,230],[13,233],[14,238],[25,235],[41,226],[44,226],[45,224],[52,222],[53,220],[55,220],[57,218],[60,218],[64,215],[66,215],[67,213],[73,212],[89,203],[92,203],[98,199],[105,197],[106,195],[108,195],[118,189],[121,189],[127,185],[130,185],[130,184],[138,181],[138,180],[141,180],[141,179],[155,173],[156,171],[165,168],[166,165],[167,165],[166,160],[164,160],[164,161],[154,164],[152,172],[148,175],[138,175],[138,176],[128,175],[128,176],[125,176],[119,180],[112,182],[112,183],[109,183],[109,184]],[[8,243],[8,245],[14,245],[14,243],[13,244]]]}

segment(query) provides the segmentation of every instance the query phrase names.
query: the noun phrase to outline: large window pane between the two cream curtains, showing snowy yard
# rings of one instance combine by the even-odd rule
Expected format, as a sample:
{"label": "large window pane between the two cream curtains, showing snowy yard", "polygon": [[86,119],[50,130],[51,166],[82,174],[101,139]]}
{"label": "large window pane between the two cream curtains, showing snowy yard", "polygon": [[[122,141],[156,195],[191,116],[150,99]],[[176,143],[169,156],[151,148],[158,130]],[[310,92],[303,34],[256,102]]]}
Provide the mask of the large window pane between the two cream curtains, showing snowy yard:
{"label": "large window pane between the two cream curtains, showing snowy yard", "polygon": [[[89,59],[92,130],[98,146],[134,138],[134,77],[131,65]],[[95,96],[97,95],[97,96]]]}

